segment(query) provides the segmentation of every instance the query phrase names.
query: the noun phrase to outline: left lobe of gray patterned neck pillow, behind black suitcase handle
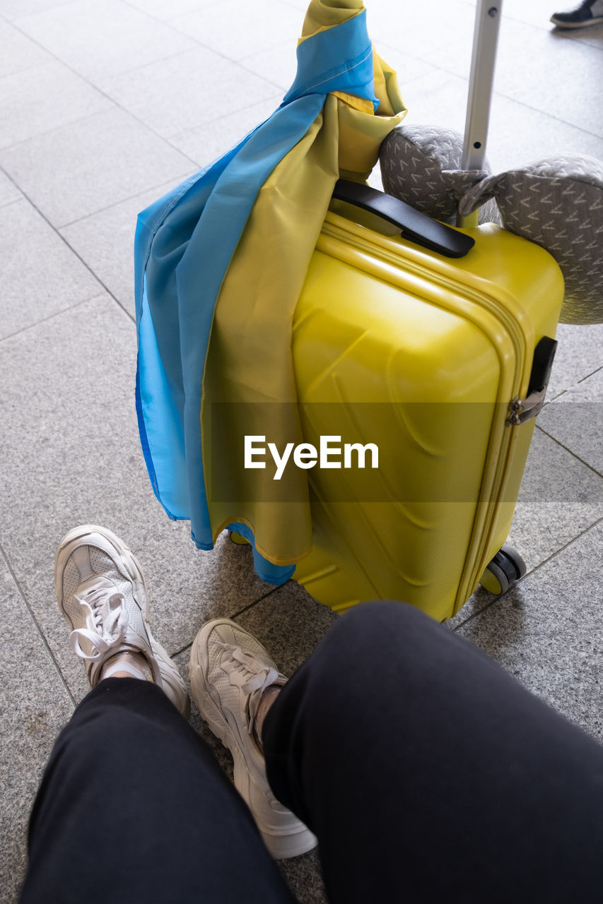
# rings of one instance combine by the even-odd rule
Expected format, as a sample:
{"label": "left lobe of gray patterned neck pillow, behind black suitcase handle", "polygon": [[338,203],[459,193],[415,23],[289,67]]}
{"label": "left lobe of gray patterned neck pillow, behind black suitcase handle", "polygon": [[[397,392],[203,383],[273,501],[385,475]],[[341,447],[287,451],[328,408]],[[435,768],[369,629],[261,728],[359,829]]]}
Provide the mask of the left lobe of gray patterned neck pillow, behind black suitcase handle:
{"label": "left lobe of gray patterned neck pillow, behind black suitcase handle", "polygon": [[[388,194],[436,220],[456,222],[458,203],[467,189],[492,173],[461,170],[463,136],[436,126],[398,126],[381,145],[379,163]],[[480,222],[500,223],[494,202],[480,210]]]}

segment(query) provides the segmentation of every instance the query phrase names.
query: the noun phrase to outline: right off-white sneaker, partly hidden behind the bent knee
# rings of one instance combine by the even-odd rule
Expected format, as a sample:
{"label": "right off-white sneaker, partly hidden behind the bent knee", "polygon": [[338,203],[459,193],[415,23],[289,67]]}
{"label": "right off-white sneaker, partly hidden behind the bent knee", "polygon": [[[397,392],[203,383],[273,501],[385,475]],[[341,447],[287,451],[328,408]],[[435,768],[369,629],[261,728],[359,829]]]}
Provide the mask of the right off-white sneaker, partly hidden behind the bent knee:
{"label": "right off-white sneaker, partly hidden behind the bent knee", "polygon": [[227,618],[207,622],[190,654],[191,694],[210,729],[235,760],[235,787],[254,816],[274,858],[296,857],[316,846],[316,837],[273,795],[254,719],[263,691],[287,679],[263,646]]}

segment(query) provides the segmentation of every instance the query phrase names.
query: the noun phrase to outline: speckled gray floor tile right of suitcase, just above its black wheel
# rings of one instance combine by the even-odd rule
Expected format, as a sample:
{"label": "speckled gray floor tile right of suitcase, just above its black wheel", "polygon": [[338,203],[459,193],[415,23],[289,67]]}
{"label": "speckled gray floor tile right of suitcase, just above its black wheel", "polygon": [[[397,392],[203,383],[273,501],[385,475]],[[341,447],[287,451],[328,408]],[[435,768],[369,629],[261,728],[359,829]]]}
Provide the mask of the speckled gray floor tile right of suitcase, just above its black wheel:
{"label": "speckled gray floor tile right of suitcase, just above its black wheel", "polygon": [[[601,517],[603,480],[536,428],[509,532],[528,573]],[[479,588],[448,624],[458,626],[492,602],[492,595]]]}

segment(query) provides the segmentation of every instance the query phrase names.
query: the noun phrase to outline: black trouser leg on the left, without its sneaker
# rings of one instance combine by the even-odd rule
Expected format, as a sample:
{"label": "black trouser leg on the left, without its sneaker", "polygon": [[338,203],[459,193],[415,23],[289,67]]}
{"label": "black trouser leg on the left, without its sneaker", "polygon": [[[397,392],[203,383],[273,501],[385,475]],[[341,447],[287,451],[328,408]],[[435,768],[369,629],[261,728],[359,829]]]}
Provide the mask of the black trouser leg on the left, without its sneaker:
{"label": "black trouser leg on the left, without its sneaker", "polygon": [[101,681],[57,739],[22,904],[294,898],[211,751],[152,683]]}

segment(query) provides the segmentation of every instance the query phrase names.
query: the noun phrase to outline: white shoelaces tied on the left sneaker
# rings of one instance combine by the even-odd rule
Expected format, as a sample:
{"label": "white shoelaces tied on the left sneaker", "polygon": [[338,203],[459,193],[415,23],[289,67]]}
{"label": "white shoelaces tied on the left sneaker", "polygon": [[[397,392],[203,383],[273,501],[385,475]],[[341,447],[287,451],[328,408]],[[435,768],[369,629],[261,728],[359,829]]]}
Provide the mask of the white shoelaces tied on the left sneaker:
{"label": "white shoelaces tied on the left sneaker", "polygon": [[[124,596],[119,591],[109,592],[106,588],[91,589],[85,598],[75,597],[87,609],[86,626],[72,631],[69,640],[73,653],[81,659],[95,661],[104,658],[111,650],[122,644],[128,627],[128,613],[122,605]],[[93,652],[84,653],[80,640],[85,639]]]}

